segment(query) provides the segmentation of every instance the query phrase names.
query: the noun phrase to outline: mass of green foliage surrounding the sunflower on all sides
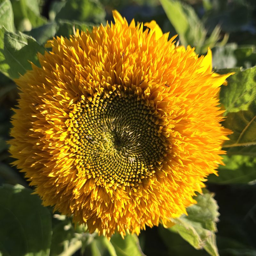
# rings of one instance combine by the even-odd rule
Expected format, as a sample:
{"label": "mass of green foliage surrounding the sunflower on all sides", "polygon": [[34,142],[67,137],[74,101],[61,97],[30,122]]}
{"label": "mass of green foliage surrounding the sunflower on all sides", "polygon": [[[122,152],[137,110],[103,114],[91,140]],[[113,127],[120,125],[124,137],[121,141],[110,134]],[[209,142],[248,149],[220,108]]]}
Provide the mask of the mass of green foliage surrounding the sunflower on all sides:
{"label": "mass of green foliage surrounding the sunflower on all sides", "polygon": [[12,80],[31,69],[29,61],[39,65],[36,54],[44,53],[47,40],[69,37],[76,29],[92,30],[94,24],[106,23],[106,15],[112,19],[111,11],[118,9],[128,21],[134,17],[140,17],[136,21],[156,20],[163,31],[172,31],[171,36],[177,32],[180,44],[195,46],[198,54],[213,48],[217,72],[236,72],[220,91],[220,103],[226,109],[223,125],[233,131],[224,144],[228,155],[223,156],[225,165],[220,165],[219,177],[210,175],[206,183],[216,194],[220,216],[212,194],[206,192],[196,197],[196,205],[188,207],[188,215],[173,220],[176,225],[172,228],[146,228],[140,241],[136,235],[123,239],[118,234],[109,241],[89,234],[83,225],[74,225],[71,218],[51,216],[52,209],[43,207],[30,189],[4,185],[0,187],[0,255],[256,255],[255,1],[160,2],[163,8],[156,0],[63,0],[51,4],[0,0],[0,184],[28,187],[12,167],[8,153],[10,108],[18,98]]}

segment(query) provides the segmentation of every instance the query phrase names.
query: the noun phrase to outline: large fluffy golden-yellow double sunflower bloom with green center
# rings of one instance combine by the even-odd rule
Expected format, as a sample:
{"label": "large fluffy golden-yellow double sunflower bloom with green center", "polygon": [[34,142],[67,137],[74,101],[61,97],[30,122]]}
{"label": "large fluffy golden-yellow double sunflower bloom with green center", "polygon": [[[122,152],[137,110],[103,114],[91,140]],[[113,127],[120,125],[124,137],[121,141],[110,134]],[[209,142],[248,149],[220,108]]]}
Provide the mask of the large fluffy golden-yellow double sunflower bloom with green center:
{"label": "large fluffy golden-yellow double sunflower bloom with green center", "polygon": [[212,55],[176,46],[155,21],[57,37],[16,83],[10,152],[44,205],[90,232],[139,234],[186,213],[216,173],[228,130]]}

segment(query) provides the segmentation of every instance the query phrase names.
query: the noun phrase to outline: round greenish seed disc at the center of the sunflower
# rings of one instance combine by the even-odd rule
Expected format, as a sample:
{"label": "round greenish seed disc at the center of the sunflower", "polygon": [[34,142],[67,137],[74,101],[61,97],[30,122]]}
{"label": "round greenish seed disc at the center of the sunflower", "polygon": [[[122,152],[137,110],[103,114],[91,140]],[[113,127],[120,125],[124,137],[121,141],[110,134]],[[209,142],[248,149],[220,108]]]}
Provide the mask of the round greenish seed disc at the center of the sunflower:
{"label": "round greenish seed disc at the center of the sunflower", "polygon": [[76,167],[97,185],[136,186],[161,168],[166,155],[158,112],[143,95],[127,90],[101,90],[70,113]]}

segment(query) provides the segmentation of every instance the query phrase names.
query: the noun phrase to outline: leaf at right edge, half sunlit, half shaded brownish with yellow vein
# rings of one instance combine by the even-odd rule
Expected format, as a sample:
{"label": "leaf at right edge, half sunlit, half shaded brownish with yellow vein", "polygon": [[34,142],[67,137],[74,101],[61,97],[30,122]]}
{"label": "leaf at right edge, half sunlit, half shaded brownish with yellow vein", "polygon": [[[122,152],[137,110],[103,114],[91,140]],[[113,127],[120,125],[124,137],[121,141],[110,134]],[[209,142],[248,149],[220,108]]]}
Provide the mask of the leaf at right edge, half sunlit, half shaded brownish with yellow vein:
{"label": "leaf at right edge, half sunlit, half shaded brownish with yellow vein", "polygon": [[221,69],[218,73],[236,72],[228,86],[222,86],[220,102],[226,109],[224,126],[233,133],[223,148],[228,154],[256,156],[256,67],[241,70]]}

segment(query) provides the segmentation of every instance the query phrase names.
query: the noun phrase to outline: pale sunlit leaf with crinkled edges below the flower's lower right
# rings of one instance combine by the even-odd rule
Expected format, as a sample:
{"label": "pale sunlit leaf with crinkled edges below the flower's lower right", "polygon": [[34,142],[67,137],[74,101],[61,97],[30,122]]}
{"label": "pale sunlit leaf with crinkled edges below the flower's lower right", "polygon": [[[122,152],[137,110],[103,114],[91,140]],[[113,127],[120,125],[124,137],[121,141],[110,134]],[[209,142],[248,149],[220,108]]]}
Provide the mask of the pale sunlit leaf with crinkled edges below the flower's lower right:
{"label": "pale sunlit leaf with crinkled edges below the flower's lower right", "polygon": [[[210,255],[219,255],[215,232],[218,221],[218,205],[212,194],[198,195],[197,204],[188,207],[188,215],[172,219],[175,225],[168,228],[170,232],[179,233],[196,249],[205,249]],[[166,239],[165,239],[166,241]],[[172,243],[172,241],[169,241]]]}

